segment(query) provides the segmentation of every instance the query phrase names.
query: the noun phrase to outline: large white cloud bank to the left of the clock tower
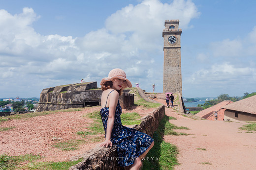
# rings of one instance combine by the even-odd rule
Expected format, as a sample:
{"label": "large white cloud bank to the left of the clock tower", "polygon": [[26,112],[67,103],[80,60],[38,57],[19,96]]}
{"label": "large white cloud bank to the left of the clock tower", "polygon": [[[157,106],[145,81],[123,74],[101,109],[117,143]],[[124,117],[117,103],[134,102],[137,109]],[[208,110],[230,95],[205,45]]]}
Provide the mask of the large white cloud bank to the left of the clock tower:
{"label": "large white cloud bank to the left of the clock tower", "polygon": [[76,83],[82,77],[99,82],[113,68],[125,70],[143,89],[151,90],[149,83],[160,87],[164,20],[179,19],[186,29],[198,15],[191,0],[143,0],[109,16],[101,29],[73,38],[37,33],[32,23],[40,16],[32,8],[15,15],[0,10],[2,95],[38,97],[43,88]]}

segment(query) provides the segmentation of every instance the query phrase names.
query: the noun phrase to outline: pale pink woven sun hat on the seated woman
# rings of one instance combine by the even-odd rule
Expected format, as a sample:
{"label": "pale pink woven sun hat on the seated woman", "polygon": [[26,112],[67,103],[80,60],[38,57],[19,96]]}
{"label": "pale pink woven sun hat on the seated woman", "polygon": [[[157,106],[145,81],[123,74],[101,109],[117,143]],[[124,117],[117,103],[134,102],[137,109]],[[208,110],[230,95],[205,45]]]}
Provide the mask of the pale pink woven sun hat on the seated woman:
{"label": "pale pink woven sun hat on the seated woman", "polygon": [[[102,78],[102,80],[100,81],[100,85],[102,86],[103,83],[105,83],[106,81],[112,81],[114,78],[119,78],[122,80],[126,80],[126,87],[131,88],[132,85],[130,83],[130,81],[126,78],[126,73],[125,71],[123,71],[122,69],[113,69],[109,72],[108,77],[106,78]],[[126,87],[123,88],[126,88]]]}

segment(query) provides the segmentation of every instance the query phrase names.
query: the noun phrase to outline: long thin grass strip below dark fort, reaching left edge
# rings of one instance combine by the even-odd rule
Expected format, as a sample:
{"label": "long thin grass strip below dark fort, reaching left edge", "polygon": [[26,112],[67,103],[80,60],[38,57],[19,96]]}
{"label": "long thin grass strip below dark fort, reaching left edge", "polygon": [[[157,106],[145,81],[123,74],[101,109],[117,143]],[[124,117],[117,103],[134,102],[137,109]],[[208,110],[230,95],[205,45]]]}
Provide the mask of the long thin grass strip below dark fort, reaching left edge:
{"label": "long thin grass strip below dark fort, reaching left edge", "polygon": [[[55,110],[55,111],[30,112],[30,113],[19,114],[19,115],[10,115],[10,116],[6,116],[4,118],[0,118],[0,122],[15,120],[15,119],[30,119],[30,118],[37,117],[37,116],[45,116],[45,115],[50,115],[50,114],[55,114],[55,113],[60,113],[60,112],[75,112],[75,111],[81,111],[81,110],[82,110],[82,108],[69,108],[69,109]],[[7,120],[6,118],[7,119],[9,118],[9,120]]]}

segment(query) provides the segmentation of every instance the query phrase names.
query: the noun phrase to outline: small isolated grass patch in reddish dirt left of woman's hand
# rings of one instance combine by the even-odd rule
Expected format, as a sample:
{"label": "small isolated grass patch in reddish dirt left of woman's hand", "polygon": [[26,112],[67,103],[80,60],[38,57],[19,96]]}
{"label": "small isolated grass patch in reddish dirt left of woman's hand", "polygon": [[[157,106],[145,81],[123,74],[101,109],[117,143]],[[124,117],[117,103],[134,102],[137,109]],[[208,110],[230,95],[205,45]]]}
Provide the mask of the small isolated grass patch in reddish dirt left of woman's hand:
{"label": "small isolated grass patch in reddish dirt left of woman's hand", "polygon": [[78,146],[84,142],[85,141],[83,140],[70,140],[66,142],[58,142],[53,146],[61,150],[76,150],[78,149]]}

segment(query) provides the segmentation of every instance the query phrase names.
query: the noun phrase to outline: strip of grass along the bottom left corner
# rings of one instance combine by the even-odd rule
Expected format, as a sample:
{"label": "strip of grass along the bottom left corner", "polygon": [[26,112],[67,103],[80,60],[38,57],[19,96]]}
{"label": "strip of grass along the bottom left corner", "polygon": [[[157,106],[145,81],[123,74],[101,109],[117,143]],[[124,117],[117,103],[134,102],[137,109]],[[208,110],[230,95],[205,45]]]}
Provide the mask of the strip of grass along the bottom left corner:
{"label": "strip of grass along the bottom left corner", "polygon": [[20,156],[0,155],[0,170],[68,170],[69,167],[81,162],[64,161],[64,162],[37,162],[42,157],[39,155],[25,154]]}

